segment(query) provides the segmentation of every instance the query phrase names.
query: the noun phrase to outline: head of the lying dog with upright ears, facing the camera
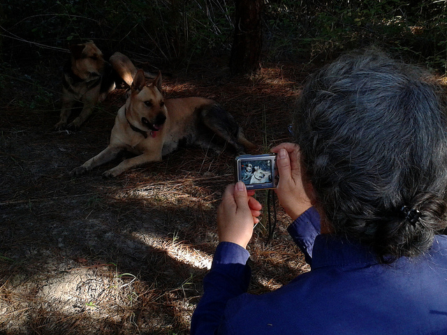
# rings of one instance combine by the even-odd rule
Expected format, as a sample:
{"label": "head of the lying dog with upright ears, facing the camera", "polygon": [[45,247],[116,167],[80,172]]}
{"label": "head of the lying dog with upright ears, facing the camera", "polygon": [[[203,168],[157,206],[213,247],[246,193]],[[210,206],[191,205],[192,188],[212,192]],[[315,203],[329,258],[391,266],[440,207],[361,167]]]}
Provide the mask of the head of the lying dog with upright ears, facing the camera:
{"label": "head of the lying dog with upright ears, facing the camera", "polygon": [[143,131],[150,131],[152,137],[160,131],[168,116],[161,94],[161,73],[153,82],[148,82],[143,70],[138,70],[131,85],[128,121]]}

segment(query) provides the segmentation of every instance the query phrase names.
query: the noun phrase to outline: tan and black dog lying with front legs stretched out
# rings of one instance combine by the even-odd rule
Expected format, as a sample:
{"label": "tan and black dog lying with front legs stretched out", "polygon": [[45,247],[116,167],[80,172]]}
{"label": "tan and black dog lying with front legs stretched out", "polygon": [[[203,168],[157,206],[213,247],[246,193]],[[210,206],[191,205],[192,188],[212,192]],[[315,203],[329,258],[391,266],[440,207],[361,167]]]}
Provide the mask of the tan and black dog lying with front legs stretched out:
{"label": "tan and black dog lying with front legs stretched out", "polygon": [[125,159],[104,172],[103,177],[117,177],[138,165],[161,161],[162,156],[177,149],[179,144],[196,144],[216,151],[220,147],[211,142],[215,135],[230,143],[238,153],[254,147],[231,114],[215,101],[199,97],[165,100],[161,94],[161,73],[149,83],[143,71],[138,70],[131,85],[131,96],[115,118],[110,144],[70,175],[108,163],[124,150],[137,156]]}

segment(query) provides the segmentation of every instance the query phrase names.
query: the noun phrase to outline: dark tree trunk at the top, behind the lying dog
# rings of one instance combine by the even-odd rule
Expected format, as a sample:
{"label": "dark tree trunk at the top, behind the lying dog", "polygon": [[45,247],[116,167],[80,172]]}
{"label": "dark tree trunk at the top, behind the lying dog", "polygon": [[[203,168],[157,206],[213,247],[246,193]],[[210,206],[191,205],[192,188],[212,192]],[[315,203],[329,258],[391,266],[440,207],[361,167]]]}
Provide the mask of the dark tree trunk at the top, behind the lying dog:
{"label": "dark tree trunk at the top, behind the lying dog", "polygon": [[235,36],[231,47],[231,73],[251,74],[261,70],[264,0],[235,0]]}

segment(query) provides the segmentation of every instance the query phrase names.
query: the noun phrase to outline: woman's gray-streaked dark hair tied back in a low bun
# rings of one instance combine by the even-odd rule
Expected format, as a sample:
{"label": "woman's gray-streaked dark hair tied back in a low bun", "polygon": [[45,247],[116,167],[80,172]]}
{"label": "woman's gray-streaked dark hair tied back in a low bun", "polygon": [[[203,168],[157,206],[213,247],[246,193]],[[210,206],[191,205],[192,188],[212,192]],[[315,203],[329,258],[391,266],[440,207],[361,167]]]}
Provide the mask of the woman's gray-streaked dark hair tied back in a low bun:
{"label": "woman's gray-streaked dark hair tied back in a low bun", "polygon": [[[438,85],[376,49],[308,80],[293,117],[316,201],[335,234],[385,262],[416,256],[446,228],[447,133]],[[420,211],[416,223],[402,207]]]}

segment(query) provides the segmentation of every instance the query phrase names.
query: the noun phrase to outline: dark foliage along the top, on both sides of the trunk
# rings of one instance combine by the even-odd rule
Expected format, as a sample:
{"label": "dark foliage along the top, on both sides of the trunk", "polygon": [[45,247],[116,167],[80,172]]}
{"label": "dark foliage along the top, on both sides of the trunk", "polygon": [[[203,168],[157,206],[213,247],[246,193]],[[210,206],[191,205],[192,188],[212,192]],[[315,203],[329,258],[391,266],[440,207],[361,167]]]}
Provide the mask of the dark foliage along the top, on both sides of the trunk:
{"label": "dark foliage along the top, on both sides of the trunk", "polygon": [[[185,66],[228,54],[235,6],[232,0],[3,0],[0,8],[0,54],[11,66],[88,39],[105,52]],[[263,17],[264,60],[327,59],[376,43],[445,71],[446,1],[266,0]]]}

